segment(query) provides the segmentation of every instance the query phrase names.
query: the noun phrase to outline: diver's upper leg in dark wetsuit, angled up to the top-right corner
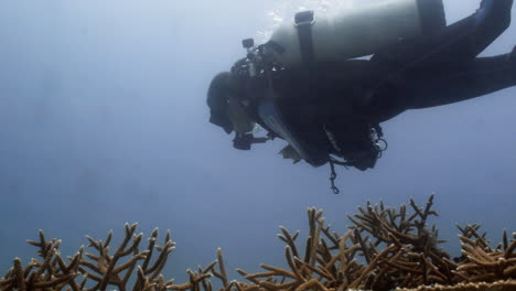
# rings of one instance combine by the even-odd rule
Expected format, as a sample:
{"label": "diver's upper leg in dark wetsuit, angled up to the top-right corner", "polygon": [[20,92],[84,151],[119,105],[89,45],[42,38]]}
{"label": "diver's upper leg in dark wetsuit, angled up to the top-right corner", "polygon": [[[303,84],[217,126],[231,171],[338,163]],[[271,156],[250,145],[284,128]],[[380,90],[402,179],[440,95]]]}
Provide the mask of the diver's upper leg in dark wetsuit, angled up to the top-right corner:
{"label": "diver's upper leg in dark wetsuit, angled up to the top-right corner", "polygon": [[390,63],[394,68],[462,62],[476,57],[510,24],[514,0],[483,0],[480,9],[434,35],[402,40],[372,61]]}

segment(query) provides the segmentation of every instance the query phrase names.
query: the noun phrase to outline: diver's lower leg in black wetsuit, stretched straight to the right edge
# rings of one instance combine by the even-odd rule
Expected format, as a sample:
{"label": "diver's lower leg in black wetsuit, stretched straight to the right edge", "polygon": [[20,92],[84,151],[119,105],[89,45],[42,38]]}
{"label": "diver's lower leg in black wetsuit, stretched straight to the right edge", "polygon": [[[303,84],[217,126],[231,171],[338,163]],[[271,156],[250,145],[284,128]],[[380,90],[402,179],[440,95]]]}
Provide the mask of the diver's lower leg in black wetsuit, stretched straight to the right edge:
{"label": "diver's lower leg in black wetsuit, stretched straight to the right edge", "polygon": [[366,105],[355,105],[355,112],[383,122],[408,109],[459,103],[512,86],[516,86],[516,47],[510,54],[412,69],[375,88]]}

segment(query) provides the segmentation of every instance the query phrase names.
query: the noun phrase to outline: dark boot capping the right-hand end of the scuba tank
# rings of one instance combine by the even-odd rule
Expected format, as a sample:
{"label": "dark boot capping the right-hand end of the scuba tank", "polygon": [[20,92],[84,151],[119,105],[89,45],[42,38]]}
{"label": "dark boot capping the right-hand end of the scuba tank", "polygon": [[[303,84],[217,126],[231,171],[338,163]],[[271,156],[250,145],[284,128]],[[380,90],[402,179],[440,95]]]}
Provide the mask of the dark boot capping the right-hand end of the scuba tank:
{"label": "dark boot capping the right-hand end of the scuba tank", "polygon": [[421,19],[421,34],[430,35],[447,26],[442,0],[417,0]]}

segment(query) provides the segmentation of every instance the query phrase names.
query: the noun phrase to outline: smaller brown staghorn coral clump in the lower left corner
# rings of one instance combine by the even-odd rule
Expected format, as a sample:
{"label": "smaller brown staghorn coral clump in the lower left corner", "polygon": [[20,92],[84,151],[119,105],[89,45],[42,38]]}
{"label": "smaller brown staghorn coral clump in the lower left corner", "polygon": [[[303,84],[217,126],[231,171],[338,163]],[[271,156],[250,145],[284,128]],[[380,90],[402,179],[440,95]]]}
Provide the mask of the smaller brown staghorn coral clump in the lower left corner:
{"label": "smaller brown staghorn coral clump in the lower left corner", "polygon": [[[0,290],[106,290],[108,285],[117,290],[129,290],[129,280],[136,274],[131,290],[174,290],[178,285],[173,280],[166,281],[161,270],[166,263],[169,254],[174,249],[175,242],[171,240],[170,231],[166,233],[161,246],[157,245],[158,229],[152,231],[147,250],[139,251],[142,234],[136,235],[137,225],[126,224],[126,236],[116,248],[114,255],[109,255],[112,233],[107,238],[95,240],[87,236],[89,247],[97,254],[85,252],[82,247],[67,261],[61,256],[58,248],[61,240],[46,240],[40,230],[40,241],[28,240],[30,245],[39,248],[41,260],[32,261],[22,267],[19,258],[13,261],[3,279],[0,279]],[[155,259],[152,257],[155,254]],[[123,262],[122,262],[123,261]],[[137,263],[141,262],[137,267]],[[194,282],[211,277],[207,273],[191,273]],[[198,279],[201,278],[201,279]],[[180,289],[178,289],[180,290]]]}

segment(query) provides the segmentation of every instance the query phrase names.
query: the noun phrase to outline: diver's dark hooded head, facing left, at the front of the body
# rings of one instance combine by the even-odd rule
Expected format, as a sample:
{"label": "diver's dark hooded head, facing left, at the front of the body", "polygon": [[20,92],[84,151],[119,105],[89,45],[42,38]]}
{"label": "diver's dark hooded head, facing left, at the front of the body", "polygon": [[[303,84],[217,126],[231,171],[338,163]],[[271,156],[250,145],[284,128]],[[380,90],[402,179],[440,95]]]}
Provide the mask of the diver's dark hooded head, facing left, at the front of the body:
{"label": "diver's dark hooded head, facing left, at the front of the body", "polygon": [[233,131],[233,122],[228,115],[230,78],[229,72],[217,74],[209,84],[206,100],[209,107],[209,122],[223,128],[227,133]]}

